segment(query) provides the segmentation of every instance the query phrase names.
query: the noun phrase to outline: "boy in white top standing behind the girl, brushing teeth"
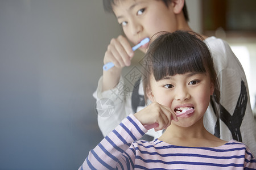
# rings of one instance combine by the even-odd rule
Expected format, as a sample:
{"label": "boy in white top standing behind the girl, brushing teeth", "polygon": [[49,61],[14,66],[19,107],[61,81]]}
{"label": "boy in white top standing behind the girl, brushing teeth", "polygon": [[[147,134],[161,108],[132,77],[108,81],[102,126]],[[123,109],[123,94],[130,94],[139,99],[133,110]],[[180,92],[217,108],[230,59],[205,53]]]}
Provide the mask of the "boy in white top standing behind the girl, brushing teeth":
{"label": "boy in white top standing behind the girl, brushing teeth", "polygon": [[[126,38],[138,44],[156,32],[174,32],[178,29],[191,30],[183,0],[104,0],[105,10],[113,10],[121,24]],[[212,52],[221,99],[212,97],[204,116],[207,130],[217,137],[229,141],[235,139],[245,143],[256,155],[256,131],[250,106],[245,73],[230,46],[216,37],[204,37]],[[105,136],[130,113],[136,113],[145,106],[141,80],[135,83],[132,92],[125,90],[121,76],[122,68],[130,66],[134,52],[123,36],[112,39],[105,53],[104,64],[113,62],[114,67],[103,71],[94,97],[97,100],[110,99],[115,110],[109,117],[98,116],[98,125]],[[174,44],[175,45],[175,44]],[[146,53],[147,44],[140,50]],[[122,95],[120,95],[122,94]],[[98,108],[98,107],[97,107]],[[162,133],[150,130],[148,135],[158,138]]]}

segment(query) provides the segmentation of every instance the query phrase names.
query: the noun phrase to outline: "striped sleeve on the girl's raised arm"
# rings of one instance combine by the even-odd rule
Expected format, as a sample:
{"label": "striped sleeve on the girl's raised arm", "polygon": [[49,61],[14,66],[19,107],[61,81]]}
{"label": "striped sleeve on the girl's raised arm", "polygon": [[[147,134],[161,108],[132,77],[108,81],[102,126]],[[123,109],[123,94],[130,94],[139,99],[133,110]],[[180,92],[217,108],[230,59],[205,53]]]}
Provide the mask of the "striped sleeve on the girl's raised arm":
{"label": "striped sleeve on the girl's raised arm", "polygon": [[141,122],[130,114],[89,152],[79,169],[123,169],[133,165],[135,153],[126,151],[131,143],[137,141],[146,132]]}

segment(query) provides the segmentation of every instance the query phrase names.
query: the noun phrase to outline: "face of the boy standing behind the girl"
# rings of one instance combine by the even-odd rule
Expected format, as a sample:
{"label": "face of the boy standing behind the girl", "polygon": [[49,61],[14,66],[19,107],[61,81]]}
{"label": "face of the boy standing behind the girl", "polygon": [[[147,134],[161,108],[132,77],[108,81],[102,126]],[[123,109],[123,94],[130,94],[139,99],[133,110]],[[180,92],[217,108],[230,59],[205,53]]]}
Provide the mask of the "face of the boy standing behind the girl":
{"label": "face of the boy standing behind the girl", "polygon": [[[113,11],[127,39],[134,44],[159,31],[179,29],[174,3],[167,7],[163,1],[156,0],[116,0]],[[146,52],[146,47],[140,49]]]}

